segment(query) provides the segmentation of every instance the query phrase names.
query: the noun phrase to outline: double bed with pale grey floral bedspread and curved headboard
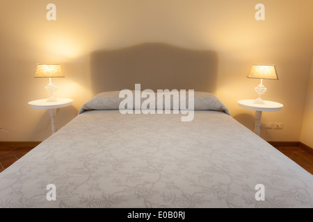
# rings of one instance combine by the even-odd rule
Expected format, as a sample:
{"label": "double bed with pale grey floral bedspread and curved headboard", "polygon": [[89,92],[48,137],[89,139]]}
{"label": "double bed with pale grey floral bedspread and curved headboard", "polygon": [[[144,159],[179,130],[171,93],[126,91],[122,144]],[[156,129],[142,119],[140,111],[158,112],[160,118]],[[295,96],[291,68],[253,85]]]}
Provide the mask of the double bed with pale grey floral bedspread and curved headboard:
{"label": "double bed with pale grey floral bedspread and curved headboard", "polygon": [[[131,52],[138,56],[140,51],[147,58],[142,52],[155,47],[166,49],[166,55],[173,49],[185,59],[197,53],[145,44],[109,54],[112,60],[127,60],[127,55],[134,56]],[[123,56],[117,56],[120,52]],[[214,58],[208,69],[216,65],[214,53],[200,53]],[[90,56],[95,76],[104,70],[101,61],[110,58],[104,54]],[[193,58],[198,60],[188,59]],[[179,69],[187,69],[177,62]],[[115,65],[113,76],[120,78],[120,61]],[[157,64],[151,67],[159,69]],[[127,74],[138,71],[129,68]],[[215,67],[210,78],[216,72]],[[142,89],[157,89],[159,83],[137,77],[143,80]],[[118,86],[112,78],[106,76],[111,84],[102,89],[95,81],[95,96],[77,117],[0,173],[0,207],[313,207],[313,176],[233,119],[207,83],[193,88],[184,85],[188,81],[184,87],[170,83],[170,89],[195,89],[194,117],[181,121],[184,114],[175,113],[175,106],[170,113],[121,114],[118,90],[134,89],[138,79]],[[200,74],[196,79],[201,78],[207,77]],[[55,186],[56,200],[48,200],[47,185]]]}

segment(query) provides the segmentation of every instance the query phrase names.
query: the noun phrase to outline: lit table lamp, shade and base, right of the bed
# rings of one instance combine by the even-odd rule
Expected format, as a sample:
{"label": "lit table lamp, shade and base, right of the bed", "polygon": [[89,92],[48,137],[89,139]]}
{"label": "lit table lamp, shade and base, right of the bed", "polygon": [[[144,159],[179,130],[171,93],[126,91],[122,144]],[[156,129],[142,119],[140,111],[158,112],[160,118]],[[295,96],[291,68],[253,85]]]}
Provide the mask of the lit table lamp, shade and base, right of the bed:
{"label": "lit table lamp, shade and base, right of the bed", "polygon": [[255,103],[264,103],[261,99],[261,95],[266,92],[266,87],[262,85],[263,79],[275,79],[278,80],[277,71],[275,65],[252,65],[250,73],[247,78],[260,78],[261,83],[255,87],[255,92],[259,95],[257,99],[255,99]]}

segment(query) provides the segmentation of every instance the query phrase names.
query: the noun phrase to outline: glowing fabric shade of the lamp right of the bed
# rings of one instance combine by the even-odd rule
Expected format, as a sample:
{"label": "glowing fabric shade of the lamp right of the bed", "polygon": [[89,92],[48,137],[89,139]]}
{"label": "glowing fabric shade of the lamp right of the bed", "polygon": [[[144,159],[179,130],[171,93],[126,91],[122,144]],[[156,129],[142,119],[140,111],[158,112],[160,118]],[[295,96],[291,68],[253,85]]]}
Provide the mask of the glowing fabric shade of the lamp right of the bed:
{"label": "glowing fabric shade of the lamp right of the bed", "polygon": [[278,80],[278,75],[275,65],[252,65],[252,68],[247,78]]}

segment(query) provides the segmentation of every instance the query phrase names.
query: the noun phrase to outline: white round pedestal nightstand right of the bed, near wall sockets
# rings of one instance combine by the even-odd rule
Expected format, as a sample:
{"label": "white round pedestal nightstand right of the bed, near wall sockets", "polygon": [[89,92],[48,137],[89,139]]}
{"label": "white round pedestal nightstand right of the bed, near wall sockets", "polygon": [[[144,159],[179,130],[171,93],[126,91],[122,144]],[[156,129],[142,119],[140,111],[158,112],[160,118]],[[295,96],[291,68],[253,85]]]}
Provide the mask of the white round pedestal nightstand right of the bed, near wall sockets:
{"label": "white round pedestal nightstand right of the bed, near wall sockets", "polygon": [[273,112],[279,111],[284,105],[273,101],[262,101],[263,103],[255,103],[255,99],[243,99],[237,101],[241,108],[248,110],[255,110],[255,133],[259,135],[259,128],[261,126],[262,111]]}

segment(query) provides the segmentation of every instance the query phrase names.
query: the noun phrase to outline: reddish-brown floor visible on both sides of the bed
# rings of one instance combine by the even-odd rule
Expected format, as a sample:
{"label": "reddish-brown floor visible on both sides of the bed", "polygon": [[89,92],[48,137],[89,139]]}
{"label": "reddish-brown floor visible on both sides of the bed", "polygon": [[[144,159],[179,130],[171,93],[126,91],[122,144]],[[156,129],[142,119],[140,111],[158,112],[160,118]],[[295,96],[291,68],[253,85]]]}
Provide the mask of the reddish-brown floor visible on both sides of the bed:
{"label": "reddish-brown floor visible on both sides of the bed", "polygon": [[[31,151],[37,145],[24,144],[23,146],[10,146],[8,144],[0,144],[0,172],[8,168],[20,157]],[[303,167],[306,171],[313,174],[313,155],[305,152],[298,146],[277,147],[279,151],[287,155],[291,160]]]}

